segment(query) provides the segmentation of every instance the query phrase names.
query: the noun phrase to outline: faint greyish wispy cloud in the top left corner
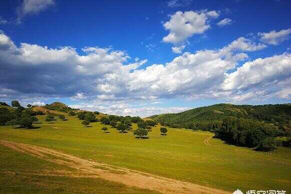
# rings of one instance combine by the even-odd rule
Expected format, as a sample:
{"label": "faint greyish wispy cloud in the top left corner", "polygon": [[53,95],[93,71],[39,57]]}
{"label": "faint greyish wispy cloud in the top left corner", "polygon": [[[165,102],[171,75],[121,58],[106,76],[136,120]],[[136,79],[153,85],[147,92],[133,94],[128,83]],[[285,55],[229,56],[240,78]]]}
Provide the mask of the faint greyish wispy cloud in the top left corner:
{"label": "faint greyish wispy cloud in the top left corner", "polygon": [[55,5],[54,0],[24,0],[18,8],[18,20],[21,22],[23,17],[38,14],[53,5]]}

